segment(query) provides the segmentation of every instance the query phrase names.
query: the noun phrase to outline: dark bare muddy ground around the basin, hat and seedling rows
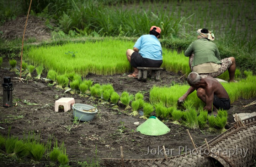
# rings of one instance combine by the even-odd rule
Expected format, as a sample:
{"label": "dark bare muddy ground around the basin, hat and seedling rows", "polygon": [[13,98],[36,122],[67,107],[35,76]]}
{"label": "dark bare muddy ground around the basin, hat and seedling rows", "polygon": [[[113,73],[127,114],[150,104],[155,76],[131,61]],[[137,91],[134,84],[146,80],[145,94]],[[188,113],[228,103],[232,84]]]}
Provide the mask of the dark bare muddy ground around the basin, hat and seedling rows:
{"label": "dark bare muddy ground around the basin, hat and seedling rows", "polygon": [[[181,154],[182,147],[193,149],[192,143],[186,132],[187,127],[178,126],[170,122],[165,124],[171,129],[169,133],[161,136],[148,136],[136,132],[137,125],[134,122],[143,123],[145,119],[139,116],[129,116],[124,112],[122,105],[118,109],[102,104],[101,101],[80,97],[78,94],[71,95],[65,90],[56,89],[49,86],[48,81],[26,80],[21,82],[17,74],[7,69],[0,68],[0,84],[3,77],[10,76],[14,85],[13,100],[17,106],[5,108],[0,107],[0,133],[7,136],[8,128],[11,127],[10,135],[23,138],[23,134],[34,131],[40,133],[41,142],[46,143],[49,136],[55,137],[59,143],[64,141],[66,152],[70,160],[70,165],[79,166],[77,161],[91,161],[92,158],[119,158],[120,146],[123,146],[125,158],[162,158],[162,146],[169,149],[168,156]],[[36,73],[32,74],[36,77]],[[43,75],[46,77],[46,74]],[[186,78],[182,74],[162,71],[161,79],[155,81],[147,79],[146,82],[135,78],[128,78],[126,74],[113,76],[96,76],[89,74],[85,79],[91,79],[95,83],[111,83],[117,93],[127,90],[129,93],[142,91],[145,93],[145,100],[149,99],[149,91],[153,85],[167,85],[173,83],[184,83]],[[2,103],[2,88],[0,91],[0,101]],[[74,98],[75,103],[88,104],[98,108],[97,116],[90,122],[79,122],[73,125],[73,110],[64,112],[62,106],[59,112],[54,112],[54,103],[59,98]],[[25,104],[24,100],[37,105]],[[232,114],[256,111],[256,105],[246,108],[242,106],[255,101],[252,99],[239,99],[235,101],[228,111],[228,123],[234,122]],[[22,117],[18,117],[22,116]],[[15,119],[16,118],[16,119]],[[124,126],[123,133],[119,129]],[[226,126],[228,128],[228,126]],[[190,134],[197,146],[201,146],[206,138],[207,141],[217,137],[219,134],[207,133],[204,129],[190,129]],[[152,150],[153,149],[153,150]],[[155,150],[156,154],[155,154]],[[172,152],[171,152],[172,149]],[[151,151],[148,154],[148,150]],[[1,162],[0,166],[22,166],[15,162]],[[6,164],[7,163],[7,164]],[[48,162],[41,161],[36,166],[45,166]],[[103,165],[103,163],[101,163]],[[27,165],[25,165],[27,166]]]}

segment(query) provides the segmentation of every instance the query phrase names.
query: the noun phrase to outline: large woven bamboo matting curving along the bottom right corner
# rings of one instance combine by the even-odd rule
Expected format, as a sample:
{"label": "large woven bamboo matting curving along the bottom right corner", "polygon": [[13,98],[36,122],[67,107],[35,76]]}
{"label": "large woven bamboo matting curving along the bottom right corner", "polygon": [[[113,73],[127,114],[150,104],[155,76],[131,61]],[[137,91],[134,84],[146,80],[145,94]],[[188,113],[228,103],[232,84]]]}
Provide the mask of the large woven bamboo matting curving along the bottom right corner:
{"label": "large woven bamboo matting curving along the bottom right corner", "polygon": [[[233,124],[234,126],[226,132],[187,154],[156,159],[103,158],[103,160],[107,167],[215,167],[215,162],[224,167],[250,166],[256,158],[255,117],[236,120],[238,121]],[[122,153],[121,157],[123,157]]]}

